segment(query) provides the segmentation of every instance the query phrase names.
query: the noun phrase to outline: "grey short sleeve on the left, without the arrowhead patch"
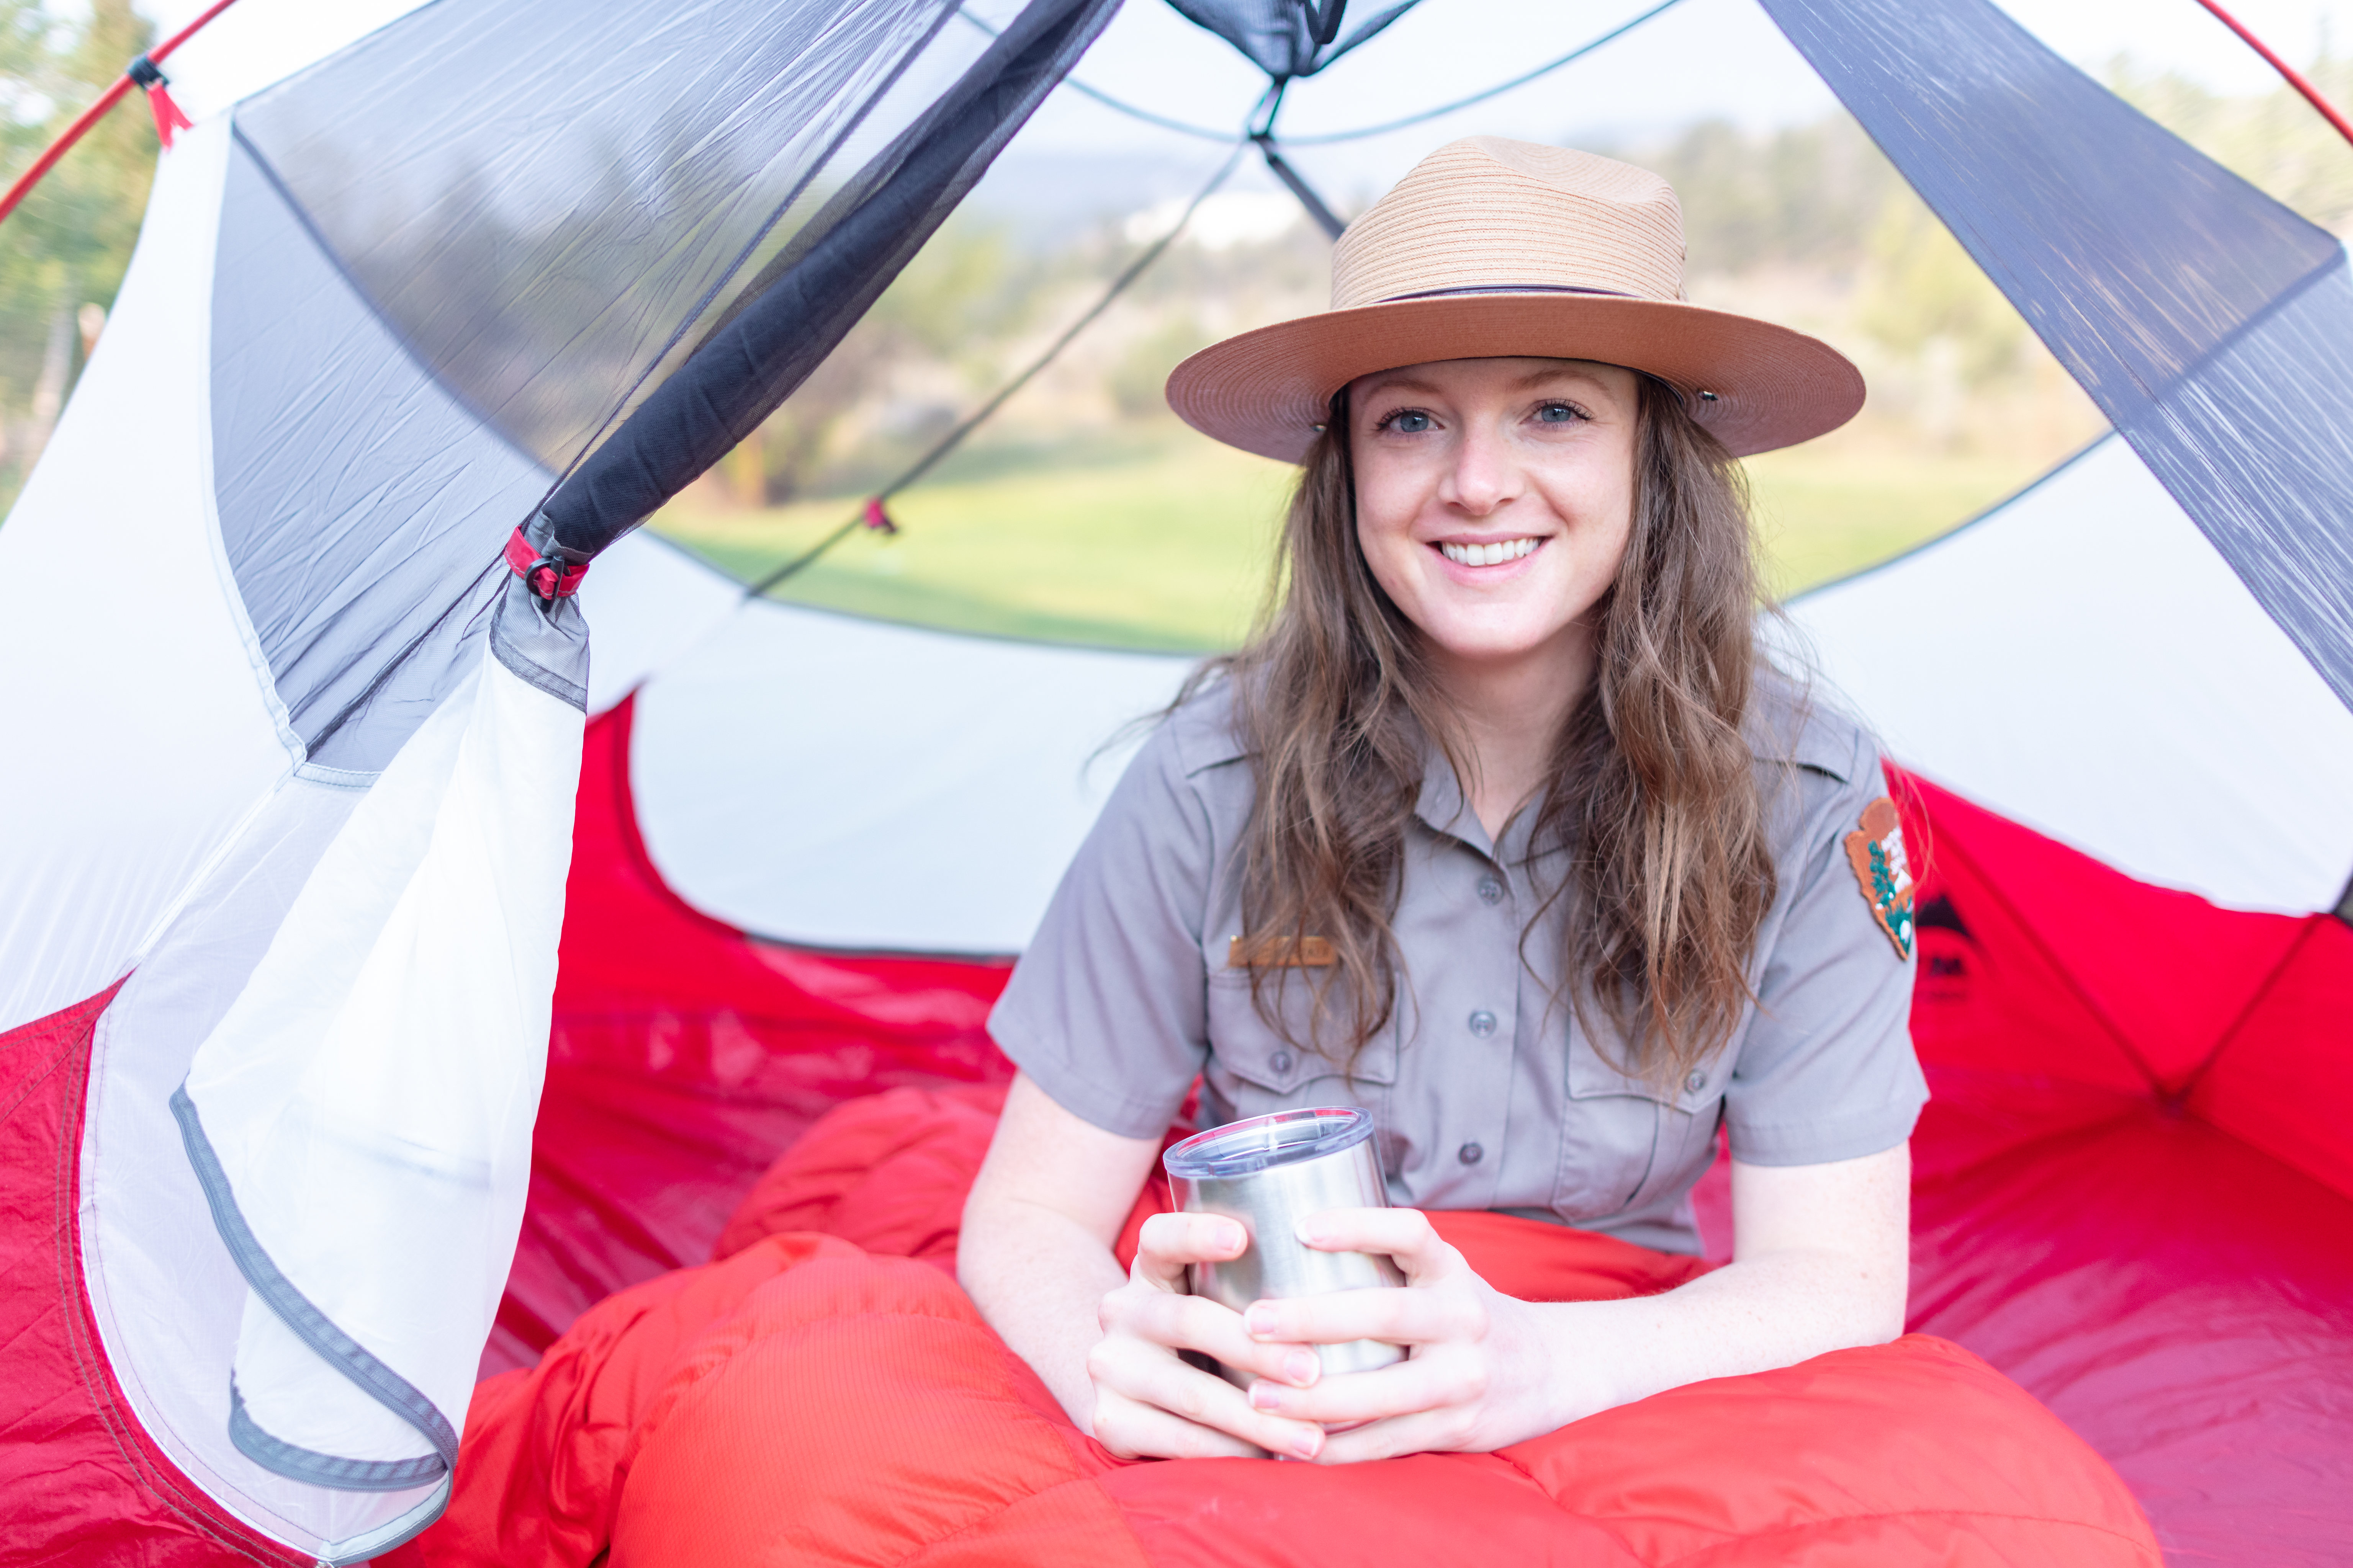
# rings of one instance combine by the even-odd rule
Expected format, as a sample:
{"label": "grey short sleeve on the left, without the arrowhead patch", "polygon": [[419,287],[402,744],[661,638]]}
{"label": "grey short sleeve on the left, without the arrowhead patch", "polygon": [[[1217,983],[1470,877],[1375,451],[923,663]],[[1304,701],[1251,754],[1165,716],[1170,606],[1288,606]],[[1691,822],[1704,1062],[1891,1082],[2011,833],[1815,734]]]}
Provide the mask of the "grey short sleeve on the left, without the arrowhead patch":
{"label": "grey short sleeve on the left, without the arrowhead patch", "polygon": [[1120,776],[1064,872],[988,1034],[1056,1105],[1122,1138],[1158,1138],[1207,1044],[1209,809],[1176,722]]}

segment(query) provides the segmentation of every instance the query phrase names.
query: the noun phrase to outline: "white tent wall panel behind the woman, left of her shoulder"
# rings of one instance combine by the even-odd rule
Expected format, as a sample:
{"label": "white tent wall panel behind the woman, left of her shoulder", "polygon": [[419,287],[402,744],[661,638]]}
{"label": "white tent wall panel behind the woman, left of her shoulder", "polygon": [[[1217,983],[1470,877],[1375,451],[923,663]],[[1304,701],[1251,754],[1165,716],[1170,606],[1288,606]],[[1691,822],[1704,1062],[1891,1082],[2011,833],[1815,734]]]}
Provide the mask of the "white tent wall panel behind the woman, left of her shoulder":
{"label": "white tent wall panel behind the woman, left of her shoulder", "polygon": [[758,936],[1019,952],[1193,663],[748,602],[638,693],[645,849]]}

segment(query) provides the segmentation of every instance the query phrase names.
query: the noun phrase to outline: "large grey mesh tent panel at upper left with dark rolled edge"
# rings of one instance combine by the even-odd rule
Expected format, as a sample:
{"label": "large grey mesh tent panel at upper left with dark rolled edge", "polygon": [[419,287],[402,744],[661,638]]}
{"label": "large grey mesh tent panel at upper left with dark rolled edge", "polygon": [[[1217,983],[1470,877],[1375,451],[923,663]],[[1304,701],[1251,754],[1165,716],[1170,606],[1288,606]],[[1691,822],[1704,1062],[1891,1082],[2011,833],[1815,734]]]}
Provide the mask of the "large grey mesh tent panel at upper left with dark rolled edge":
{"label": "large grey mesh tent panel at upper left with dark rolled edge", "polygon": [[591,557],[842,339],[1118,0],[438,0],[238,106],[221,541],[311,764],[369,773],[501,541]]}

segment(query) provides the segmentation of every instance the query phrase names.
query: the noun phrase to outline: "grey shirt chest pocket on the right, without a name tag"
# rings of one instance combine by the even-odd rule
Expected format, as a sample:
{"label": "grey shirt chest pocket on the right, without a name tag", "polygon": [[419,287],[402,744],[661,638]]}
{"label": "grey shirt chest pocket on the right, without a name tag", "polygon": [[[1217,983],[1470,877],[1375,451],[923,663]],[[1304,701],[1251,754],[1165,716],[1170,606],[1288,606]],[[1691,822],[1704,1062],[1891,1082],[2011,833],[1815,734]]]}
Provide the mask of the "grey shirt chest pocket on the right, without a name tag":
{"label": "grey shirt chest pocket on the right, without a name tag", "polygon": [[1553,1211],[1569,1222],[1607,1220],[1697,1180],[1715,1152],[1727,1074],[1713,1060],[1678,1084],[1654,1084],[1619,1072],[1572,1025]]}

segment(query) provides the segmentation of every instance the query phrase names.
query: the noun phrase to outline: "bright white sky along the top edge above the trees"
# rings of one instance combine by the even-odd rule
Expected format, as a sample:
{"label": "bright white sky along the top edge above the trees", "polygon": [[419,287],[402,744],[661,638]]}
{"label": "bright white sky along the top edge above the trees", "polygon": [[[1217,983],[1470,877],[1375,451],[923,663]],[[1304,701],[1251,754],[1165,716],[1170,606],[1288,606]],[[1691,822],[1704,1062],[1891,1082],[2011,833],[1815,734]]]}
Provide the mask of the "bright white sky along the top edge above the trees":
{"label": "bright white sky along the top edge above the trees", "polygon": [[[169,33],[202,2],[148,0],[141,9]],[[195,115],[214,113],[391,21],[412,2],[240,0],[172,56],[174,94]],[[1355,54],[1297,82],[1280,129],[1313,136],[1468,96],[1567,54],[1649,2],[1424,0]],[[1005,14],[1014,5],[974,0],[984,14]],[[2177,71],[2217,92],[2266,92],[2275,85],[2271,68],[2195,0],[2002,5],[2094,73],[2129,54],[2144,71]],[[1358,0],[1353,9],[1374,7]],[[2308,63],[2329,38],[2353,47],[2353,0],[2233,0],[2231,9],[2294,63]],[[1160,0],[1127,0],[1075,75],[1136,106],[1209,127],[1240,125],[1264,87],[1224,40]],[[1817,120],[1833,108],[1828,89],[1755,0],[1680,0],[1593,56],[1473,110],[1367,141],[1304,146],[1297,162],[1334,202],[1358,207],[1454,136],[1626,141],[1704,118],[1767,129]],[[1066,200],[1139,209],[1198,183],[1221,158],[1207,141],[1127,120],[1064,89],[1024,127],[1005,160],[1007,179],[993,186],[1016,205],[1021,193],[1009,186],[1026,181],[1052,183]],[[1132,190],[1122,181],[1132,181]],[[1240,190],[1266,186],[1259,169],[1235,181]]]}

